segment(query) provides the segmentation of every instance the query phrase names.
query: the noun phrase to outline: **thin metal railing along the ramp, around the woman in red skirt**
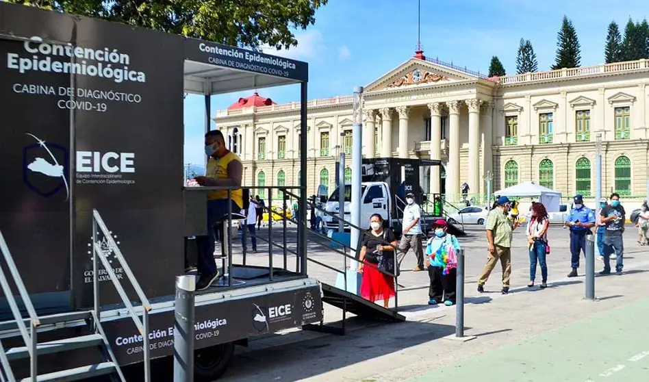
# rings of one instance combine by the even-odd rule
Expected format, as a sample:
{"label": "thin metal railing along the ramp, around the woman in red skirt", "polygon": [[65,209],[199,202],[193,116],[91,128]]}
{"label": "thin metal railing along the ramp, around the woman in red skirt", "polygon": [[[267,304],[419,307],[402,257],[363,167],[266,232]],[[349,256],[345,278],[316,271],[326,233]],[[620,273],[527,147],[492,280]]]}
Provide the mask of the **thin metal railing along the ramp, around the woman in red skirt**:
{"label": "thin metal railing along the ramp, around the woman in red skirt", "polygon": [[[286,194],[288,194],[288,195],[290,195],[292,197],[295,197],[295,198],[299,198],[299,196],[297,196],[295,194],[292,194],[290,192],[286,192]],[[344,222],[344,226],[346,228],[357,229],[359,231],[359,239],[361,238],[361,235],[365,231],[367,231],[367,229],[365,229],[365,228],[358,227],[357,225],[354,225],[351,222],[348,222],[348,221],[346,221],[344,219],[341,219],[340,215],[336,215],[336,214],[333,214],[331,212],[325,211],[324,209],[316,206],[314,203],[310,203],[309,201],[306,201],[306,203],[307,203],[307,205],[309,205],[309,207],[311,207],[313,209],[317,209],[321,214],[323,214],[325,216],[331,216],[331,218],[342,220]],[[322,238],[323,242],[333,243],[333,244],[336,244],[337,246],[340,246],[342,248],[342,250],[341,250],[341,249],[338,249],[338,248],[335,248],[335,247],[330,247],[331,251],[333,251],[335,253],[338,253],[339,255],[341,255],[343,257],[344,264],[343,264],[343,269],[342,270],[340,270],[338,268],[335,268],[333,266],[330,266],[329,264],[324,264],[323,262],[319,262],[318,260],[313,259],[311,257],[307,257],[307,261],[312,262],[314,264],[318,264],[319,266],[322,266],[324,268],[327,268],[329,270],[333,270],[335,272],[338,272],[338,273],[342,274],[343,277],[344,277],[344,286],[345,286],[345,290],[346,290],[347,289],[347,272],[346,272],[346,270],[348,270],[348,268],[349,268],[348,264],[347,264],[347,260],[351,259],[351,260],[353,260],[355,262],[359,261],[359,259],[357,257],[357,254],[360,253],[360,248],[355,249],[355,251],[356,251],[355,255],[351,256],[346,252],[347,251],[351,252],[351,251],[354,250],[354,248],[351,246],[351,245],[353,245],[352,243],[347,245],[347,244],[345,244],[343,242],[340,242],[339,240],[335,240],[334,238],[329,238],[329,236],[324,235],[323,233],[320,233],[318,231],[311,230],[310,233],[313,234],[313,235],[316,235],[316,237],[318,237],[318,238]],[[398,272],[398,266],[399,266],[399,264],[398,264],[398,261],[397,261],[399,249],[398,249],[398,246],[394,246],[394,245],[392,245],[392,243],[387,242],[385,240],[381,240],[381,243],[383,245],[386,245],[386,246],[392,246],[392,249],[393,249],[392,253],[394,253],[394,270],[395,270],[395,272],[394,273],[387,272],[385,270],[382,270],[381,268],[379,268],[378,266],[376,266],[374,264],[366,264],[366,265],[369,265],[372,268],[377,269],[379,272],[381,272],[385,276],[394,278],[394,310],[396,311],[396,310],[398,310],[398,306],[399,306],[398,305],[398,286],[399,286],[399,284],[398,284],[398,273],[399,273]],[[344,322],[344,316],[343,316],[343,322]]]}

